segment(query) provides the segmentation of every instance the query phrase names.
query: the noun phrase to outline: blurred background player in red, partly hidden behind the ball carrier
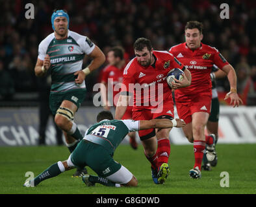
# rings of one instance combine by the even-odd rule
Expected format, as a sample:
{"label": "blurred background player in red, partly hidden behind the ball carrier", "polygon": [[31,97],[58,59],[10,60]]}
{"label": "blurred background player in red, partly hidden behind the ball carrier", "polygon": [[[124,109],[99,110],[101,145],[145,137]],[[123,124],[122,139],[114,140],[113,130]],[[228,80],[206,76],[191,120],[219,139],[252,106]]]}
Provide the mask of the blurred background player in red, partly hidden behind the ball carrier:
{"label": "blurred background player in red, partly hidden behind the ball carrier", "polygon": [[[120,93],[120,86],[118,84],[122,83],[125,65],[123,56],[124,50],[120,46],[112,47],[107,53],[109,65],[103,69],[101,77],[101,98],[103,100],[103,108],[108,111],[112,105],[116,106],[116,102],[118,101],[118,93]],[[109,97],[109,95],[112,97]],[[133,106],[127,107],[122,117],[123,120],[132,118],[132,109]],[[131,147],[137,149],[138,144],[136,142],[135,132],[128,133],[128,136]]]}

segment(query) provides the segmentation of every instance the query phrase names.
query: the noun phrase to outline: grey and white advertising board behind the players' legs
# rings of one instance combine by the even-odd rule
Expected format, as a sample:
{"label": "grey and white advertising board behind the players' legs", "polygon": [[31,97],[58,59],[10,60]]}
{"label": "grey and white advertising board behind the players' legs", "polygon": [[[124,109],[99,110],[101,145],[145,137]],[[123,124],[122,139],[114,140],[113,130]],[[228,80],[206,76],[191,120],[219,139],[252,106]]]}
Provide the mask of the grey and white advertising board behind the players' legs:
{"label": "grey and white advertising board behind the players' legs", "polygon": [[[96,122],[101,107],[81,107],[75,116],[81,133]],[[114,111],[112,111],[114,113]],[[177,112],[175,110],[175,117]],[[34,146],[38,144],[39,116],[38,108],[2,108],[0,109],[0,146]],[[56,130],[52,118],[46,130],[46,144],[56,144]],[[138,136],[137,136],[137,140]],[[182,129],[173,128],[170,133],[173,144],[190,144]],[[122,142],[127,144],[128,139]],[[256,143],[256,107],[233,108],[220,107],[218,143]]]}

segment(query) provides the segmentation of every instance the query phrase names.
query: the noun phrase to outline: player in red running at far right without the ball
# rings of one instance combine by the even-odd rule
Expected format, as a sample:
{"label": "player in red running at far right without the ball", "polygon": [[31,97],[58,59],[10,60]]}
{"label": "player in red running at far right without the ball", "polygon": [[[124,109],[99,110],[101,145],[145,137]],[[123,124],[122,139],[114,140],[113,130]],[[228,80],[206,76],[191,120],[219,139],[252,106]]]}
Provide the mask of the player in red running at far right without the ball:
{"label": "player in red running at far right without the ball", "polygon": [[179,118],[186,122],[183,127],[186,138],[189,142],[194,142],[195,164],[189,171],[190,177],[198,179],[201,177],[201,161],[203,151],[207,144],[206,155],[208,160],[214,160],[214,135],[205,136],[205,125],[211,111],[212,65],[217,65],[227,74],[230,92],[225,99],[230,98],[233,107],[238,107],[242,100],[237,94],[237,75],[233,67],[214,47],[201,43],[203,39],[202,23],[198,21],[188,21],[185,27],[185,43],[173,46],[169,52],[181,61],[192,76],[189,87],[181,88],[181,83],[173,83],[175,90],[175,103]]}

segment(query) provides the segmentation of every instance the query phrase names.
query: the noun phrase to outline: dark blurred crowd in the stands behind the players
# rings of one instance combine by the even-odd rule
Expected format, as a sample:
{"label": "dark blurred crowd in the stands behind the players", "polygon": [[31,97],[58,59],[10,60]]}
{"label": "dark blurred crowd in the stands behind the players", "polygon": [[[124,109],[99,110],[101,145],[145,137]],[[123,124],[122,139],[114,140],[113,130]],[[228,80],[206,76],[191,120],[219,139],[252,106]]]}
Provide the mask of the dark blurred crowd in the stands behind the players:
{"label": "dark blurred crowd in the stands behind the players", "polygon": [[[88,36],[105,54],[110,47],[122,45],[127,60],[134,57],[136,38],[149,38],[155,50],[168,50],[185,41],[187,21],[201,21],[205,27],[202,42],[216,47],[233,65],[237,71],[238,93],[245,96],[246,104],[256,105],[256,3],[225,1],[229,5],[229,19],[221,19],[223,2],[213,2],[0,0],[0,98],[13,100],[16,93],[36,93],[42,87],[42,82],[34,76],[38,45],[53,32],[53,10],[64,8],[70,16],[70,30]],[[34,19],[25,18],[27,3],[34,5]],[[88,61],[84,60],[84,65]],[[92,100],[92,87],[105,65],[86,78],[87,100]],[[218,91],[229,91],[227,78],[218,80]]]}

